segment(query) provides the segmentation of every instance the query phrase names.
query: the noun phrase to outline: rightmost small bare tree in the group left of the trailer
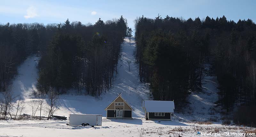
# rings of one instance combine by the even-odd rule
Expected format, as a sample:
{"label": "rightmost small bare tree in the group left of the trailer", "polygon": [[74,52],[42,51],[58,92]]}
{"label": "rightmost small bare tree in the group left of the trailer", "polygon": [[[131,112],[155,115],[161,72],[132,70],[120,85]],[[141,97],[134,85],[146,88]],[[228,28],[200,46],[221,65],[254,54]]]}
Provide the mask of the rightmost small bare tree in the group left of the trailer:
{"label": "rightmost small bare tree in the group left of the trailer", "polygon": [[49,100],[47,101],[46,106],[46,110],[48,112],[47,120],[49,120],[50,117],[59,109],[59,97],[54,92],[53,88],[51,88],[51,90],[48,92],[48,97]]}

